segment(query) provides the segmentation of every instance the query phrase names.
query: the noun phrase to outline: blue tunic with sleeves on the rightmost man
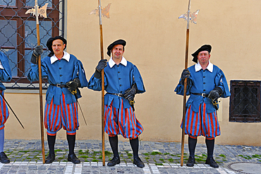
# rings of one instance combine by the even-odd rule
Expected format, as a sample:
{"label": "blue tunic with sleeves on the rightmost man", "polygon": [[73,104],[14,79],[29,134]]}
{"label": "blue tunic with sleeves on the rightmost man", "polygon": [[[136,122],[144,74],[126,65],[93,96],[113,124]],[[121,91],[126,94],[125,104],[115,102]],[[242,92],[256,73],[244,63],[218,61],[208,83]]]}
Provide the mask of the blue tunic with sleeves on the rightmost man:
{"label": "blue tunic with sleeves on the rightmost man", "polygon": [[[188,78],[186,94],[190,95],[190,98],[188,98],[186,108],[189,108],[191,105],[191,109],[194,112],[199,112],[200,104],[205,103],[207,113],[215,112],[216,109],[214,108],[210,98],[203,98],[200,95],[193,95],[192,93],[209,94],[215,87],[219,87],[223,91],[221,98],[229,97],[229,86],[226,82],[226,77],[223,71],[215,65],[213,65],[212,72],[208,69],[195,71],[195,65],[190,66],[188,71],[190,71],[190,77]],[[179,81],[178,86],[176,86],[175,92],[179,95],[183,95],[184,86],[181,84],[181,80]]]}

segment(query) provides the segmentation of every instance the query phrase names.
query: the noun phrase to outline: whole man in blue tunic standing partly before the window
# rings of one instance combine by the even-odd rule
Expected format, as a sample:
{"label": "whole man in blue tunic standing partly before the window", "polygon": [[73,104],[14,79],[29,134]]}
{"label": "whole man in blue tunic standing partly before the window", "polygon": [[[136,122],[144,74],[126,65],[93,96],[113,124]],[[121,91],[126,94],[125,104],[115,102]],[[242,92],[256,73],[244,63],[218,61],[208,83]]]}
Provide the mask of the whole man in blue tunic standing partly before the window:
{"label": "whole man in blue tunic standing partly before the window", "polygon": [[[45,163],[55,159],[54,144],[56,132],[61,127],[66,129],[69,146],[68,161],[80,163],[75,156],[75,134],[78,130],[78,98],[81,97],[78,88],[87,86],[83,64],[73,54],[65,52],[67,41],[63,37],[51,37],[47,47],[51,53],[41,60],[42,77],[47,77],[49,87],[46,94],[44,109],[44,126],[47,129],[49,155]],[[42,54],[42,46],[37,46],[32,54],[31,69],[28,74],[30,81],[38,81],[39,73],[37,57]]]}

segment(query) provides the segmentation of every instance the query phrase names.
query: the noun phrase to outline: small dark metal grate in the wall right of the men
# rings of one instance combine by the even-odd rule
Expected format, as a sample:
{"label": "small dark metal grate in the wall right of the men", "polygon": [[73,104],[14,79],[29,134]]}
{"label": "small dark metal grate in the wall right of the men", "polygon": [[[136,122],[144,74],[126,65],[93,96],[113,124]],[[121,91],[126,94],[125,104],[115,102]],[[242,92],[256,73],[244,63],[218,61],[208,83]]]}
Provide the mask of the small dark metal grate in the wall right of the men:
{"label": "small dark metal grate in the wall right of the men", "polygon": [[260,122],[261,81],[230,81],[229,122]]}

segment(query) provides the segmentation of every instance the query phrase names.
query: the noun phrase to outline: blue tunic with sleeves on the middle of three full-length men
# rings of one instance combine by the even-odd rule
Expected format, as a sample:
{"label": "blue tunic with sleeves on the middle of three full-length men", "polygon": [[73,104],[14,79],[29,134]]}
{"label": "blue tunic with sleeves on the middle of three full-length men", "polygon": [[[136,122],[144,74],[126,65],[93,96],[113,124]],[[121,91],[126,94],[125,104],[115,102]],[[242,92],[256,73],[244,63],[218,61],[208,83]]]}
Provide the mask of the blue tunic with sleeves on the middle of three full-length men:
{"label": "blue tunic with sleeves on the middle of three full-length men", "polygon": [[[127,61],[127,66],[123,64],[110,67],[109,64],[104,68],[104,89],[108,93],[104,96],[104,105],[110,105],[113,101],[114,108],[120,108],[121,97],[109,93],[124,93],[133,83],[137,84],[138,93],[144,93],[145,87],[137,67]],[[92,75],[88,88],[94,91],[102,90],[102,79]],[[123,108],[130,108],[126,98],[123,98]]]}

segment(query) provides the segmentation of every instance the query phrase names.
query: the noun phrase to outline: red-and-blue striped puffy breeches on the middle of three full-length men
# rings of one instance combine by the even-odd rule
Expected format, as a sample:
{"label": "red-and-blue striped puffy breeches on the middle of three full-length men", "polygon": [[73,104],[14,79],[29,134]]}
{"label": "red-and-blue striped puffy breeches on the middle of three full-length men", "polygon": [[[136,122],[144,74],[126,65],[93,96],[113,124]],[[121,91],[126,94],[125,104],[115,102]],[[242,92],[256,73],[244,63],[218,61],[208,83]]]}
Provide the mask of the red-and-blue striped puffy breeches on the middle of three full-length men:
{"label": "red-and-blue striped puffy breeches on the middle of three full-length men", "polygon": [[133,108],[123,108],[121,99],[120,108],[110,105],[104,106],[104,132],[114,137],[121,134],[126,139],[135,139],[143,132],[143,127],[135,117]]}

